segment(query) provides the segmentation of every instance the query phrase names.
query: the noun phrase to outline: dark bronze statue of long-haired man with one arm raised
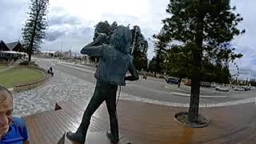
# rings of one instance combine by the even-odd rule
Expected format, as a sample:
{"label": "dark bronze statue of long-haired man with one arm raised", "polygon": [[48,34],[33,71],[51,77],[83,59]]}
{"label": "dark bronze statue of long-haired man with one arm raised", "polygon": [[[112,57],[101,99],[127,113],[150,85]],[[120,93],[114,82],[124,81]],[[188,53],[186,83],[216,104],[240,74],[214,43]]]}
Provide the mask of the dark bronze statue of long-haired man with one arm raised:
{"label": "dark bronze statue of long-haired man with one arm raised", "polygon": [[[116,115],[116,92],[119,86],[125,86],[126,80],[138,80],[138,72],[133,64],[130,53],[130,42],[132,39],[130,29],[118,26],[110,37],[110,45],[106,42],[106,34],[99,34],[98,38],[81,50],[81,54],[101,57],[96,73],[97,83],[94,95],[90,99],[82,122],[75,133],[68,132],[66,137],[72,141],[85,142],[86,132],[90,125],[90,118],[102,102],[106,101],[107,110],[110,114],[110,132],[106,135],[113,143],[118,143],[118,119]],[[126,72],[130,71],[130,76]]]}

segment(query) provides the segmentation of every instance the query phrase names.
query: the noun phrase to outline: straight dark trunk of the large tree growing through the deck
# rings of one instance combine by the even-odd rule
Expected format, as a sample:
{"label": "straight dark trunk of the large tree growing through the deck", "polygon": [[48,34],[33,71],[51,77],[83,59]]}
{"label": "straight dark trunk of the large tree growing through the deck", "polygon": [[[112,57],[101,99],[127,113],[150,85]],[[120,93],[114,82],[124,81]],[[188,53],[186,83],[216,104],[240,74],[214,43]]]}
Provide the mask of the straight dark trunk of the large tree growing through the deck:
{"label": "straight dark trunk of the large tree growing through the deck", "polygon": [[190,109],[189,121],[198,121],[199,94],[200,94],[200,73],[202,68],[202,41],[203,41],[203,18],[202,13],[198,13],[198,22],[195,35],[195,46],[192,46],[194,66],[191,77]]}

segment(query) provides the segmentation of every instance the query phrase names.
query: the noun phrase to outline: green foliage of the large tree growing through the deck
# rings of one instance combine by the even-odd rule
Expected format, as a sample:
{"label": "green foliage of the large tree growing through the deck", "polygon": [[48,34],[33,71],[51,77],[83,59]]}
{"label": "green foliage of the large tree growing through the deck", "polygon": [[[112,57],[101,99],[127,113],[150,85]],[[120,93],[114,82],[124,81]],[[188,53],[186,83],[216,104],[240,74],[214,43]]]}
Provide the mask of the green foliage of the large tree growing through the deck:
{"label": "green foliage of the large tree growing through the deck", "polygon": [[[222,62],[228,66],[228,62],[241,58],[242,54],[235,54],[234,46],[229,44],[235,35],[245,32],[236,28],[242,18],[234,10],[227,0],[170,0],[166,12],[171,17],[162,21],[162,30],[154,35],[158,72],[190,77],[192,68],[199,66],[198,72],[210,78],[216,74],[202,65],[204,59],[212,66]],[[168,50],[177,47],[176,53]]]}

